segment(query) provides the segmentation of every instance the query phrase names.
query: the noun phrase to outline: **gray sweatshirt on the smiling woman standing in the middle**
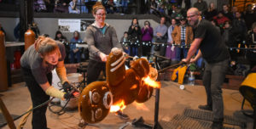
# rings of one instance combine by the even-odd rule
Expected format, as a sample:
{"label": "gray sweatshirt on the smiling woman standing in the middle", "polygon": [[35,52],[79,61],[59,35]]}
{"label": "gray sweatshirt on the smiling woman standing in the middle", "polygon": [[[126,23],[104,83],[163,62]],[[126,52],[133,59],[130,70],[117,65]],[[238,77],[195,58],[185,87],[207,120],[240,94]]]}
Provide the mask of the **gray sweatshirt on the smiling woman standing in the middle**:
{"label": "gray sweatshirt on the smiling woman standing in the middle", "polygon": [[106,31],[102,34],[96,24],[88,26],[85,31],[84,42],[87,42],[90,51],[90,59],[102,62],[99,52],[109,54],[112,48],[122,49],[113,26],[105,24]]}

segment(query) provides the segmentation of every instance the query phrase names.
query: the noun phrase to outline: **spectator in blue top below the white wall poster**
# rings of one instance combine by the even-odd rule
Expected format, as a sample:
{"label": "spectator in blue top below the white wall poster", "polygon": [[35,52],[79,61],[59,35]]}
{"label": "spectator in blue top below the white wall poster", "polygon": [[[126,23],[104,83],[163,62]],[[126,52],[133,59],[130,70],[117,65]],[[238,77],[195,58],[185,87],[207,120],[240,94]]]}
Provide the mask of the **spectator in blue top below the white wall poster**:
{"label": "spectator in blue top below the white wall poster", "polygon": [[83,42],[83,40],[80,38],[79,31],[74,31],[73,32],[73,38],[70,40],[70,63],[74,63],[74,58],[76,57],[77,62],[81,62],[81,53],[80,53],[80,48],[77,48],[76,45],[79,42]]}

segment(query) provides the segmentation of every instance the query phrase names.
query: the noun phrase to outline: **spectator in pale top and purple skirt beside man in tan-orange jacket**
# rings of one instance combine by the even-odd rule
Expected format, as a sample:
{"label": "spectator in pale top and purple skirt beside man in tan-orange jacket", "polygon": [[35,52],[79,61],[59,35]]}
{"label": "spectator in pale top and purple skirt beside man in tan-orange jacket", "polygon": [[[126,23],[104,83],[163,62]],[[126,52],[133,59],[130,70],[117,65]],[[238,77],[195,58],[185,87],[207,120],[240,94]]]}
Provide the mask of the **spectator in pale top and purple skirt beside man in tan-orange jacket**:
{"label": "spectator in pale top and purple skirt beside man in tan-orange jacket", "polygon": [[172,32],[176,26],[176,20],[171,20],[171,25],[168,28],[168,40],[167,40],[167,46],[166,46],[166,58],[172,59],[172,61],[177,60],[176,59],[176,50],[177,48],[175,46],[172,46],[173,39],[172,39]]}

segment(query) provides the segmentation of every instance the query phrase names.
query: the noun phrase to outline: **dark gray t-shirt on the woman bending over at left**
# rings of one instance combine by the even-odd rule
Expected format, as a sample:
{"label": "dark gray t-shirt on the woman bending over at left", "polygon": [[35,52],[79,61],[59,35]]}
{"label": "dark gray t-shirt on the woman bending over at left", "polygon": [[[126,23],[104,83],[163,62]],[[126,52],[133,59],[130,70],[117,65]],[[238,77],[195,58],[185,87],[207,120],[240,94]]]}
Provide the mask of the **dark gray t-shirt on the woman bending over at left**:
{"label": "dark gray t-shirt on the woman bending over at left", "polygon": [[[61,51],[61,59],[59,59],[59,61],[62,61],[66,56],[65,47],[61,42],[57,42],[57,45]],[[43,65],[43,59],[36,51],[34,44],[27,48],[25,53],[23,53],[20,59],[20,64],[23,68],[32,70],[32,75],[38,84],[46,83],[48,81],[46,75],[56,67],[56,65],[51,64],[47,64],[46,66]]]}

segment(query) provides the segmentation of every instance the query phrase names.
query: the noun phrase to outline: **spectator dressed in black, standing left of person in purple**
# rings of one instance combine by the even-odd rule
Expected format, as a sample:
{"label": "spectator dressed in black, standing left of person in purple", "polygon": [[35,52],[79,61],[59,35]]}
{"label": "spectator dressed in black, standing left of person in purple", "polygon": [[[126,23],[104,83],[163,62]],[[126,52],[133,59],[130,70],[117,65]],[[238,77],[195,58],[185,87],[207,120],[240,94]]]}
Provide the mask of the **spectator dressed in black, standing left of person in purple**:
{"label": "spectator dressed in black, standing left of person in purple", "polygon": [[[137,18],[132,19],[131,25],[128,30],[128,35],[130,36],[131,42],[137,42],[137,41],[140,42],[141,41],[142,29],[141,29],[140,25],[138,24]],[[135,55],[138,56],[137,44],[131,46],[130,53],[131,53],[131,56],[135,56]]]}

